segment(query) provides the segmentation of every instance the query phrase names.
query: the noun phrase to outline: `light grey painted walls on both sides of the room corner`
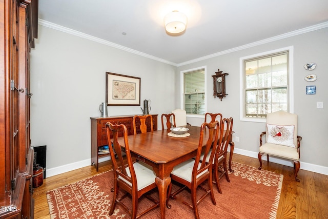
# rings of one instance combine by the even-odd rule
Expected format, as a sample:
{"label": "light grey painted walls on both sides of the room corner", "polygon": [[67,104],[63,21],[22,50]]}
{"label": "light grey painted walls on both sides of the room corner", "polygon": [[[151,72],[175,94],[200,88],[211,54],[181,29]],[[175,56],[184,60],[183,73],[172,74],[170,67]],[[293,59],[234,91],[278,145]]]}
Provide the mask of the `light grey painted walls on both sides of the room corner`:
{"label": "light grey painted walls on both sides of the room corner", "polygon": [[[106,71],[141,77],[141,105],[143,99],[151,99],[151,113],[160,115],[180,108],[180,71],[207,66],[207,111],[232,116],[234,137],[240,140],[235,142],[235,153],[257,157],[265,125],[239,120],[239,58],[293,46],[294,112],[303,137],[301,169],[328,174],[327,38],[325,28],[177,68],[39,25],[30,57],[32,145],[47,145],[47,176],[90,165],[90,117],[99,116],[98,105],[105,102]],[[306,71],[303,65],[309,62],[317,63],[317,68]],[[218,69],[229,73],[229,95],[222,101],[212,96],[211,75]],[[304,80],[310,73],[317,75],[317,81]],[[306,85],[316,85],[317,93],[306,95]],[[324,109],[316,109],[316,102],[323,102]],[[141,113],[139,106],[108,107],[108,111],[109,115]],[[200,125],[203,118],[189,117],[188,122]]]}

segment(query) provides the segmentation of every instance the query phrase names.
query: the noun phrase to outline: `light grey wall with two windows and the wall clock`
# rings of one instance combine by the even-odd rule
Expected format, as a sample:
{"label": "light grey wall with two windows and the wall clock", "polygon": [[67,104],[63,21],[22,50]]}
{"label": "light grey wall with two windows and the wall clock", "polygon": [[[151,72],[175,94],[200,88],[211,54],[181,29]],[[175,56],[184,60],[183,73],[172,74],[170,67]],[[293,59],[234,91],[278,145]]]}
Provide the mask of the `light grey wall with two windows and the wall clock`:
{"label": "light grey wall with two windows and the wall clock", "polygon": [[[301,169],[308,169],[328,174],[327,136],[328,133],[328,28],[304,33],[301,35],[281,39],[272,43],[258,45],[243,49],[204,61],[192,63],[178,68],[178,72],[207,66],[208,71],[208,112],[220,112],[224,117],[234,118],[234,136],[239,136],[239,142],[235,142],[235,151],[257,157],[259,147],[259,134],[265,131],[264,123],[241,122],[239,120],[239,58],[279,48],[294,47],[294,113],[298,114],[298,134],[303,137],[300,148]],[[317,67],[313,71],[303,68],[303,65],[314,62]],[[229,73],[226,76],[227,93],[226,98],[214,98],[213,81],[211,75],[220,69]],[[179,74],[179,73],[178,73]],[[316,74],[317,81],[306,82],[305,75]],[[180,81],[179,75],[175,77]],[[176,83],[176,89],[179,83]],[[316,85],[315,95],[306,95],[305,87]],[[179,98],[179,95],[176,95]],[[323,102],[323,109],[316,109],[316,102]],[[179,101],[175,102],[176,104]],[[203,118],[188,118],[192,125],[199,125]],[[263,156],[264,158],[264,156]],[[311,166],[311,167],[309,167]]]}

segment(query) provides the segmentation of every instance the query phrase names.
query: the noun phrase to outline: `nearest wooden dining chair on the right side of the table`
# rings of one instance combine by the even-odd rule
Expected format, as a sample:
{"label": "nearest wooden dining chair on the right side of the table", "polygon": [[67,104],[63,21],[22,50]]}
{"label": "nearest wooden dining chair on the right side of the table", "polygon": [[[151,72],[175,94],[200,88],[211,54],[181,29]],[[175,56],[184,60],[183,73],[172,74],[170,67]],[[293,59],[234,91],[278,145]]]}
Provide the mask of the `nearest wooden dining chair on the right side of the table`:
{"label": "nearest wooden dining chair on the right side of the table", "polygon": [[[206,133],[208,133],[208,138],[206,139],[206,146],[203,147],[203,138]],[[197,155],[195,159],[192,158],[188,161],[185,161],[175,166],[171,172],[170,176],[172,181],[176,181],[184,186],[171,194],[172,183],[169,185],[168,198],[167,198],[168,208],[171,208],[171,205],[169,205],[170,197],[174,199],[178,199],[179,198],[177,196],[178,193],[180,193],[186,188],[190,189],[192,204],[190,205],[186,201],[183,201],[182,203],[188,205],[193,209],[196,218],[199,218],[197,205],[208,194],[210,194],[211,196],[211,201],[213,205],[216,205],[214,192],[213,192],[213,184],[212,184],[212,161],[214,158],[215,150],[212,150],[213,152],[211,152],[211,147],[213,143],[214,144],[217,143],[218,134],[219,134],[219,123],[217,121],[213,123],[203,123],[200,126],[199,143],[198,143]],[[216,148],[216,146],[213,147],[214,149]],[[208,163],[200,162],[200,158],[204,159],[208,155],[210,156]],[[203,186],[200,185],[206,180],[208,181],[208,188],[204,188]],[[198,187],[205,192],[197,200],[196,192]]]}

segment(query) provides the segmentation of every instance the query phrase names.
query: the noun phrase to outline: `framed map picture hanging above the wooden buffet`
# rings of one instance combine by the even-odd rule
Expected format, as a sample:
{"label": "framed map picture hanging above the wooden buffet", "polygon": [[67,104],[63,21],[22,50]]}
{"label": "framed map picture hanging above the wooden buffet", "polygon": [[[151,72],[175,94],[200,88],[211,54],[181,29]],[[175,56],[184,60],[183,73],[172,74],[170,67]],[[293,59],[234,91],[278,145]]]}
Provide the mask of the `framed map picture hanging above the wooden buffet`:
{"label": "framed map picture hanging above the wooden buffet", "polygon": [[140,77],[106,72],[108,106],[140,106]]}

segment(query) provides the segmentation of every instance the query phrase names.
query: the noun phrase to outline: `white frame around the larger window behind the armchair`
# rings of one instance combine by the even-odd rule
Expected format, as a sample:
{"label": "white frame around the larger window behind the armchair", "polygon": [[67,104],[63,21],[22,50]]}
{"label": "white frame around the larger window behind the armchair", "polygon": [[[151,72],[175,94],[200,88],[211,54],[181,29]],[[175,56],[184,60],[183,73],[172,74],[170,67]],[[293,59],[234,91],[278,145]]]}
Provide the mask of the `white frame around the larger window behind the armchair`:
{"label": "white frame around the larger window behind the armchair", "polygon": [[240,57],[239,59],[239,78],[240,78],[240,121],[245,121],[245,122],[258,122],[258,123],[265,123],[267,122],[267,118],[255,118],[255,117],[245,117],[245,75],[244,75],[244,61],[245,59],[252,59],[256,57],[261,57],[261,56],[267,56],[267,55],[272,55],[275,53],[280,53],[288,51],[289,56],[288,56],[288,66],[289,66],[289,72],[288,72],[288,85],[287,85],[287,90],[289,92],[288,95],[288,109],[290,113],[294,113],[294,47],[284,47],[276,50],[271,50],[267,52],[262,52],[262,53],[257,53],[254,55],[249,55],[249,56],[244,56]]}

